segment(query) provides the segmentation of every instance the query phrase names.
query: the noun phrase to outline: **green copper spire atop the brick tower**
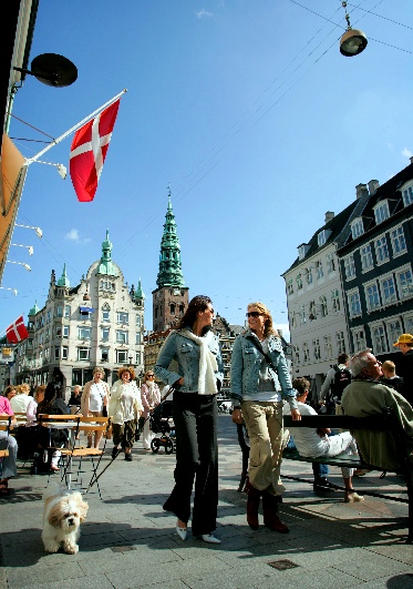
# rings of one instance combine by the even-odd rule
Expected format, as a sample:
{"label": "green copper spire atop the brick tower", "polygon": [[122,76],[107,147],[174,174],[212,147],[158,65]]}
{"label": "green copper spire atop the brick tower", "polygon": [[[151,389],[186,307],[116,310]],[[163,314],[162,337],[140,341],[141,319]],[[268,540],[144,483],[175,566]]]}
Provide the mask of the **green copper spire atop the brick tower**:
{"label": "green copper spire atop the brick tower", "polygon": [[159,288],[163,286],[177,286],[180,288],[185,285],[185,281],[182,273],[180,245],[176,233],[175,215],[172,210],[171,191],[165,219],[156,284]]}

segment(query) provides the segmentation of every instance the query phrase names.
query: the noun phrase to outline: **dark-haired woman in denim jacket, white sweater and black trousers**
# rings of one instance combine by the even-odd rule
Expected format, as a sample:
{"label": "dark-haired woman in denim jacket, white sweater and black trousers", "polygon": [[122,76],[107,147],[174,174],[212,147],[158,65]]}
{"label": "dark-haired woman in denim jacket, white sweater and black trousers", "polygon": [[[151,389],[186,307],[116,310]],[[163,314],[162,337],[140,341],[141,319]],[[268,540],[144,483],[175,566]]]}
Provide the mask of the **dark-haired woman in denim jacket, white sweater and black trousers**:
{"label": "dark-haired woman in denim jacket, white sweater and black trousers", "polygon": [[[185,540],[195,479],[192,531],[204,541],[219,544],[216,528],[218,505],[217,399],[223,380],[218,337],[210,331],[214,308],[208,296],[195,296],[177,328],[159,352],[155,374],[174,393],[176,433],[175,487],[164,505],[176,515],[176,531]],[[172,360],[177,372],[169,370]]]}

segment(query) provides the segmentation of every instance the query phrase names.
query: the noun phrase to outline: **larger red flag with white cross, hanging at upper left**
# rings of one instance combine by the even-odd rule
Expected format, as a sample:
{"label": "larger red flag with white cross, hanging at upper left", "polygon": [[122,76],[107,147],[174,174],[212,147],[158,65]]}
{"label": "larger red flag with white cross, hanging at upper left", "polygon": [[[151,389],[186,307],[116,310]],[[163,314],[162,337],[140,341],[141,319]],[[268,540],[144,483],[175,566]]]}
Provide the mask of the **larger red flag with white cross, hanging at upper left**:
{"label": "larger red flag with white cross, hanging at upper left", "polygon": [[93,201],[121,99],[107,106],[74,135],[70,150],[70,175],[80,202]]}

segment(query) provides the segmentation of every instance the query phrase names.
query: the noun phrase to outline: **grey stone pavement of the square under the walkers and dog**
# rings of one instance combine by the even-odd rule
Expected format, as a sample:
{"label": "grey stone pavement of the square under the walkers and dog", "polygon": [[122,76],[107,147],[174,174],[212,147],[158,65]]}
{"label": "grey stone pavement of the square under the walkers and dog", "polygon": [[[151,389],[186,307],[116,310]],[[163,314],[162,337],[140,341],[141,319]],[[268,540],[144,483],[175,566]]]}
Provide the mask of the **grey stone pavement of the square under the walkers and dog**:
{"label": "grey stone pavement of the square under the walkers and dog", "polygon": [[[112,443],[107,443],[112,449]],[[13,494],[0,499],[0,587],[52,588],[413,588],[413,547],[404,544],[407,506],[365,496],[344,504],[338,491],[316,497],[312,485],[283,479],[282,520],[290,534],[246,522],[246,496],[237,491],[240,450],[228,415],[219,416],[219,507],[216,535],[220,546],[175,534],[175,518],[162,509],[173,486],[175,455],[157,455],[137,443],[133,461],[122,456],[101,477],[82,525],[80,552],[47,555],[41,544],[42,492],[48,476],[32,476],[20,464],[10,481]],[[110,451],[102,461],[106,465]],[[340,470],[330,480],[341,484]],[[285,461],[286,476],[311,466]],[[59,480],[53,475],[51,480]],[[394,497],[404,489],[396,477],[371,473],[355,480],[359,494],[380,490]],[[379,489],[380,487],[380,489]]]}

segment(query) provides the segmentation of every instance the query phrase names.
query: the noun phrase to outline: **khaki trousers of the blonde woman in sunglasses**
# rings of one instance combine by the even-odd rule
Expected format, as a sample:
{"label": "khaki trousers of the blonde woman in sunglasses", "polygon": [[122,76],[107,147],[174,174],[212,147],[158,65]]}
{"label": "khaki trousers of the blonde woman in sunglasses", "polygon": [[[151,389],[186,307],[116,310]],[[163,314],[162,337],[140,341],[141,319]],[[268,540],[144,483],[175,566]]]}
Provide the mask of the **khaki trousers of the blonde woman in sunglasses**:
{"label": "khaki trousers of the blonde woman in sunglasses", "polygon": [[242,400],[241,409],[250,443],[249,483],[258,490],[281,495],[282,402]]}

